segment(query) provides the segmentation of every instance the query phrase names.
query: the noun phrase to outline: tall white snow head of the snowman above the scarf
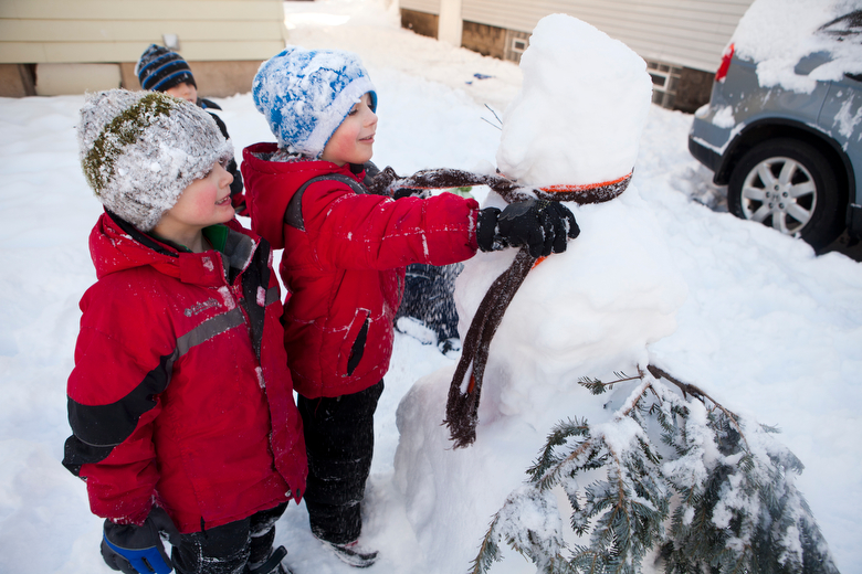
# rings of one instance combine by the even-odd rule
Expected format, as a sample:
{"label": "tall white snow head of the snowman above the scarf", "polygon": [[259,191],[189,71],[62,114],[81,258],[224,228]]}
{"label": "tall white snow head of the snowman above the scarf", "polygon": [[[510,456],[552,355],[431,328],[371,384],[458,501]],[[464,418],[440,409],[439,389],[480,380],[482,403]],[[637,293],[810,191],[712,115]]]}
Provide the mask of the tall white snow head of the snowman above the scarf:
{"label": "tall white snow head of the snowman above the scarf", "polygon": [[497,150],[506,177],[589,184],[631,172],[652,94],[638,54],[586,22],[551,14],[536,25],[521,70]]}

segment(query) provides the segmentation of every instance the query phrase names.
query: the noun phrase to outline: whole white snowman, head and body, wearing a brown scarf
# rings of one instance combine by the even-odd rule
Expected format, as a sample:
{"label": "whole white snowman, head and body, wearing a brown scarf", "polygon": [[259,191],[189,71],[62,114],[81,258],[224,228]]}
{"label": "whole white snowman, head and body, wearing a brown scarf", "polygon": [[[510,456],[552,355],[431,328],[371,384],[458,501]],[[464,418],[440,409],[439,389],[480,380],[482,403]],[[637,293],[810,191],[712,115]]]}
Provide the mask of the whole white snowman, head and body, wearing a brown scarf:
{"label": "whole white snowman, head and body, wearing a brown scarf", "polygon": [[[522,92],[503,117],[501,171],[556,184],[596,183],[631,170],[651,95],[640,57],[557,14],[536,26],[521,67]],[[572,104],[576,94],[588,94],[590,103]],[[503,204],[493,193],[487,202]],[[608,398],[591,396],[579,378],[637,374],[649,361],[648,344],[675,330],[686,287],[637,189],[607,203],[567,205],[580,237],[534,268],[506,311],[491,344],[475,444],[453,450],[440,426],[452,369],[421,380],[399,407],[396,479],[425,556],[437,561],[432,572],[463,570],[475,556],[490,517],[521,483],[555,423],[610,416]],[[462,336],[514,256],[508,249],[466,262],[455,293]],[[450,523],[467,535],[453,536]]]}

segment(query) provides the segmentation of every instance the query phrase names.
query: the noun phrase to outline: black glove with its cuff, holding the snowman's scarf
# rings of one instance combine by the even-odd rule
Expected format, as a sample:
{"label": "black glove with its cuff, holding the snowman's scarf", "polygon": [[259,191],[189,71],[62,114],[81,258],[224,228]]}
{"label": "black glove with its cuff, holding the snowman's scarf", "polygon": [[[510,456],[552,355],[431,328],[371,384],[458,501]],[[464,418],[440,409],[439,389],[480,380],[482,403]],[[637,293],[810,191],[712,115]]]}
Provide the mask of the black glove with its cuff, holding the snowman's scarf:
{"label": "black glove with its cuff, holding the snowman's scarf", "polygon": [[479,214],[479,248],[498,251],[526,245],[533,257],[566,251],[567,238],[580,234],[575,215],[555,201],[518,201],[501,211],[485,208]]}

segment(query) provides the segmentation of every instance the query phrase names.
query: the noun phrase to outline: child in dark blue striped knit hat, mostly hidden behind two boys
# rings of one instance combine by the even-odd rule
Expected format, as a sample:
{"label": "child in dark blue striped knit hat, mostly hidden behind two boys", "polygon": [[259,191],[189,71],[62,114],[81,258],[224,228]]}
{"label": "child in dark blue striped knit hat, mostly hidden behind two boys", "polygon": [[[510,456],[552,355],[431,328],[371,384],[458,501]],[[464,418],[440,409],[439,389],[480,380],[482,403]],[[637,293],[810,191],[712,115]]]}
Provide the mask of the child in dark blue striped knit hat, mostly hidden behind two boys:
{"label": "child in dark blue striped knit hat, mostly hidden behind two boys", "polygon": [[[140,55],[138,63],[135,64],[135,74],[138,76],[140,87],[146,91],[164,92],[180,99],[187,99],[208,111],[221,109],[214,102],[198,97],[198,84],[195,82],[195,76],[191,75],[189,64],[182,60],[181,55],[167,47],[150,44]],[[219,125],[224,139],[230,139],[224,121],[218,114],[212,111],[209,114]],[[225,169],[233,176],[231,204],[236,213],[242,215],[245,211],[245,196],[242,193],[242,174],[238,169],[236,160],[231,158]]]}

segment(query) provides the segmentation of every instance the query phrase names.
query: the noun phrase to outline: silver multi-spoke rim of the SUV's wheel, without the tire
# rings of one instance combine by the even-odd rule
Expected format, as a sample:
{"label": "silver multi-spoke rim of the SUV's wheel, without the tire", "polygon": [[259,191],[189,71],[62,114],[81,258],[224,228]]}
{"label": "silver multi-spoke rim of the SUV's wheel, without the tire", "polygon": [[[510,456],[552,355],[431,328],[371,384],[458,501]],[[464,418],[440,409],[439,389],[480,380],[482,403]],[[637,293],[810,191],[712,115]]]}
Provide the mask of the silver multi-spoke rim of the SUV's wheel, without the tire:
{"label": "silver multi-spoke rim of the SUV's wheel, without the tire", "polygon": [[746,220],[793,235],[814,214],[817,184],[806,167],[795,159],[765,159],[745,177],[742,208]]}

